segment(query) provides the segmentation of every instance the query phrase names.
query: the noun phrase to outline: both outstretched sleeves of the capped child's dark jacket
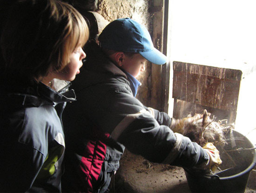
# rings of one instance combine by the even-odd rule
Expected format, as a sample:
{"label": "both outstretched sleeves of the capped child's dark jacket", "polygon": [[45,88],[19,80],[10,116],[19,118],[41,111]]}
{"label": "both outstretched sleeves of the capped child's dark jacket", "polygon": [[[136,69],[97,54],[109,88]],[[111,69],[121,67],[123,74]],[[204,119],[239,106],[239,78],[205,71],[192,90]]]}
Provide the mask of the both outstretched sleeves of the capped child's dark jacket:
{"label": "both outstretched sleeves of the capped child's dark jacket", "polygon": [[132,153],[186,167],[208,160],[202,147],[166,126],[171,122],[168,116],[155,110],[153,116],[125,86],[105,93],[104,99],[88,101],[81,108],[88,110],[89,119]]}

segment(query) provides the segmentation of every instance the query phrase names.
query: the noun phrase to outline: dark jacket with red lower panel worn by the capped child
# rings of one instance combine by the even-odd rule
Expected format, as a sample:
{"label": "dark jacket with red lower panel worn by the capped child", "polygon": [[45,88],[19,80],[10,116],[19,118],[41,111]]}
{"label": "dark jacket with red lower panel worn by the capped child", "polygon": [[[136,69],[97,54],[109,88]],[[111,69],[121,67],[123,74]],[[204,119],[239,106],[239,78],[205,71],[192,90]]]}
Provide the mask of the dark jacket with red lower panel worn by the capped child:
{"label": "dark jacket with red lower panel worn by the capped child", "polygon": [[[65,185],[71,183],[69,191],[104,192],[119,167],[124,147],[152,162],[176,166],[192,167],[209,159],[198,144],[172,132],[172,119],[166,113],[145,107],[133,96],[126,74],[99,47],[90,49],[94,53],[88,54],[73,82],[77,101],[64,112],[64,120],[70,118],[64,124],[68,152]],[[97,149],[99,142],[104,148]],[[94,169],[101,171],[91,176]]]}

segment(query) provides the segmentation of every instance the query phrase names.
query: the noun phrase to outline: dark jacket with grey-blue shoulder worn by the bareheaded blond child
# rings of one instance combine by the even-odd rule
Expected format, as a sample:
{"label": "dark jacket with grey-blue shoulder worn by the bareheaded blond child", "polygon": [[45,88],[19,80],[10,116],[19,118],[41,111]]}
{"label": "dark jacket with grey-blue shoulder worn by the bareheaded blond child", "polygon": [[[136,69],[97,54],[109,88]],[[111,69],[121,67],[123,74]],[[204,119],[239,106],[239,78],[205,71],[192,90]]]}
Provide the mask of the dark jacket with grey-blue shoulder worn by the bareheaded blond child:
{"label": "dark jacket with grey-blue shoulder worn by the bareheaded blond child", "polygon": [[19,86],[0,86],[0,192],[61,192],[59,116],[74,92],[67,98],[42,83]]}

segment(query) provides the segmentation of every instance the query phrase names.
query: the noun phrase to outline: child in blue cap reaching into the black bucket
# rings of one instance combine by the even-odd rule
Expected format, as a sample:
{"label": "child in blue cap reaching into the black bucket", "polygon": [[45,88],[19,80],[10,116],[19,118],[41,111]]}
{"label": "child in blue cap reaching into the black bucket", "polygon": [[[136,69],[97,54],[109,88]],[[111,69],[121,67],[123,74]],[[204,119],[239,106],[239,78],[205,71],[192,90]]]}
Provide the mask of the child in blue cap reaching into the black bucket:
{"label": "child in blue cap reaching into the black bucket", "polygon": [[63,190],[106,192],[125,148],[156,163],[188,168],[218,164],[214,146],[210,152],[172,131],[182,126],[182,120],[135,98],[140,85],[136,77],[145,70],[145,62],[162,65],[167,60],[153,46],[148,30],[135,20],[117,19],[98,40],[99,46],[90,44],[86,64],[73,82],[77,102],[63,114],[67,136]]}

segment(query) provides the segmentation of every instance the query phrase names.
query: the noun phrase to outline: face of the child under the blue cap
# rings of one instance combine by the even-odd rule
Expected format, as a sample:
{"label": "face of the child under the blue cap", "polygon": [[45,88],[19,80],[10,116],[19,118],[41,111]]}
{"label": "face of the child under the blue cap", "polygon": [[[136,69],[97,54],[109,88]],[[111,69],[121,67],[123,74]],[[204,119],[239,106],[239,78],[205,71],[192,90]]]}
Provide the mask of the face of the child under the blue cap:
{"label": "face of the child under the blue cap", "polygon": [[136,78],[140,75],[141,72],[145,70],[146,61],[147,60],[143,58],[139,53],[136,53],[132,57],[125,55],[121,68]]}

